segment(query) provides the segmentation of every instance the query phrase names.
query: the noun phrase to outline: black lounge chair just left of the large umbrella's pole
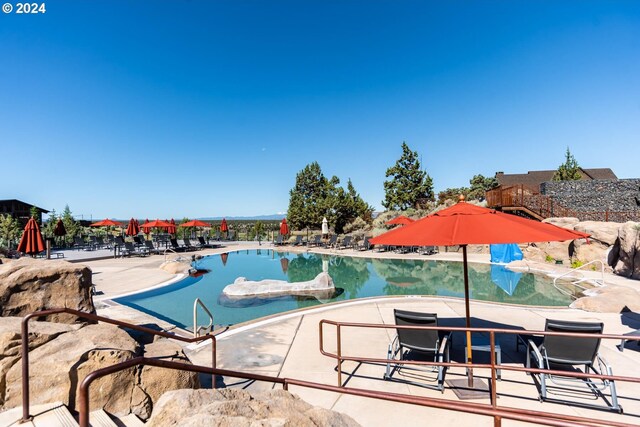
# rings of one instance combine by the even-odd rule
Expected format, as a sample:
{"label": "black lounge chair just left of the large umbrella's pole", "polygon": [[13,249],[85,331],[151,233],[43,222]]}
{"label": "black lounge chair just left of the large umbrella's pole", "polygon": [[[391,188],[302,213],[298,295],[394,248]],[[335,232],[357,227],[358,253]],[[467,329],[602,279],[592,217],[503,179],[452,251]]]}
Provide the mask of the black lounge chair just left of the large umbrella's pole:
{"label": "black lounge chair just left of the large umbrella's pole", "polygon": [[[398,326],[438,326],[438,315],[435,313],[418,313],[415,311],[393,310],[396,325]],[[404,366],[404,360],[428,361],[432,356],[434,362],[449,362],[449,347],[451,344],[451,332],[434,329],[397,329],[397,335],[389,344],[387,352],[387,369],[384,379],[399,381],[421,387],[433,388],[444,393],[444,376],[446,366],[419,365]],[[421,375],[424,372],[437,372],[436,384],[425,384],[411,379],[394,378],[394,373],[406,377],[426,381],[428,376]],[[431,379],[431,381],[434,381]]]}

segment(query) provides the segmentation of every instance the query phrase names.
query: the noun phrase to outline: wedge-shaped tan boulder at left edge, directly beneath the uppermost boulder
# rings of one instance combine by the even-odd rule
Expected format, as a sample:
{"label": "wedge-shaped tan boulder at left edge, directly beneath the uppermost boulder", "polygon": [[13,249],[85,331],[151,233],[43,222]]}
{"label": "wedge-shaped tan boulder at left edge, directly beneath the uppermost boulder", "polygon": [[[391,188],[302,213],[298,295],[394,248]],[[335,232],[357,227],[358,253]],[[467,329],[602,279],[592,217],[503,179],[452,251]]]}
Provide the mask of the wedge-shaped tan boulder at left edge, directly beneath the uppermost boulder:
{"label": "wedge-shaped tan boulder at left edge, directly beneath the uppermost boulder", "polygon": [[[5,400],[7,372],[12,366],[20,362],[21,325],[21,317],[0,317],[0,407],[2,407]],[[77,330],[80,326],[79,324],[30,322],[29,351],[40,347],[65,332]]]}

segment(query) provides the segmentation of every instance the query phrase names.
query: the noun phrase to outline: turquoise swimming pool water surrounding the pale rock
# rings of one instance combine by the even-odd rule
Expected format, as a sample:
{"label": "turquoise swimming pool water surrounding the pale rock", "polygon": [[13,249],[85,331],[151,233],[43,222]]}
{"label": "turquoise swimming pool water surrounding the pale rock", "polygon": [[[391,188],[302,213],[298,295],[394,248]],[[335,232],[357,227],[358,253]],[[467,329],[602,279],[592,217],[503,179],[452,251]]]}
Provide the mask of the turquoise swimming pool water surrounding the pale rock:
{"label": "turquoise swimming pool water surrounding the pale rock", "polygon": [[[464,298],[460,262],[352,258],[268,249],[210,255],[197,260],[194,267],[209,272],[159,289],[121,297],[116,302],[190,329],[196,298],[211,310],[216,325],[236,324],[327,302],[381,295]],[[232,301],[222,296],[222,289],[238,277],[301,282],[312,280],[322,271],[328,271],[337,288],[330,299],[280,296]],[[469,288],[474,300],[535,306],[567,306],[572,301],[571,296],[556,290],[546,276],[515,273],[498,265],[469,264]]]}

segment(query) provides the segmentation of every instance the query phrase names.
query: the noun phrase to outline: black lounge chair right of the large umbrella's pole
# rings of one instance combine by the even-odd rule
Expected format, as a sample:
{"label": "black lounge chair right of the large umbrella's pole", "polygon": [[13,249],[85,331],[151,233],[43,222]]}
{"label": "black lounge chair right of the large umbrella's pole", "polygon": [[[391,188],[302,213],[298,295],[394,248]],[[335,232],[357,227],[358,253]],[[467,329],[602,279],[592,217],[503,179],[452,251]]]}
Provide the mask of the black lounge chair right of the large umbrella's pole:
{"label": "black lounge chair right of the large umbrella's pole", "polygon": [[[564,370],[568,372],[584,372],[589,370],[597,375],[613,375],[611,366],[600,356],[601,339],[590,337],[589,334],[602,334],[604,324],[601,322],[572,322],[564,320],[547,319],[545,331],[582,333],[585,337],[567,337],[545,335],[544,337],[530,337],[527,340],[527,367],[531,366],[531,356],[539,369]],[[597,361],[597,364],[596,364]],[[584,365],[584,371],[575,365]],[[597,365],[597,366],[596,366]],[[618,404],[615,382],[611,380],[596,380],[591,378],[566,377],[556,374],[532,373],[539,382],[540,401],[549,400],[547,393],[578,395],[592,393],[596,397],[602,397],[611,410],[622,413],[622,407]],[[550,381],[552,384],[548,384]],[[586,387],[579,387],[584,385]],[[611,402],[607,400],[603,390],[609,389]],[[567,403],[566,401],[562,401]],[[573,402],[572,402],[573,403]],[[582,405],[581,406],[592,406]]]}

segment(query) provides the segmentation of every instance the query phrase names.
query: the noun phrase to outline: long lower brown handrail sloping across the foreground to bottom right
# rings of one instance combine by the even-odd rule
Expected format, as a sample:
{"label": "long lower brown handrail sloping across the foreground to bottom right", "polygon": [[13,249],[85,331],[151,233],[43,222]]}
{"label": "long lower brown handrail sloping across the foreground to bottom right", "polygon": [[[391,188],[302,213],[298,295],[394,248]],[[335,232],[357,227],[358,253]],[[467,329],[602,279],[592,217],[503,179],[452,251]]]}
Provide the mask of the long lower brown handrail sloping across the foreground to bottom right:
{"label": "long lower brown handrail sloping across the foreground to bottom right", "polygon": [[288,390],[289,386],[298,386],[312,388],[316,390],[331,391],[334,393],[348,394],[352,396],[367,397],[372,399],[380,399],[389,402],[407,403],[411,405],[418,405],[431,408],[446,409],[452,411],[460,411],[471,413],[475,415],[485,415],[494,418],[494,425],[500,426],[502,419],[510,419],[516,421],[523,421],[528,423],[534,423],[537,425],[549,425],[549,426],[624,426],[629,427],[633,424],[620,423],[615,421],[603,421],[591,418],[583,418],[571,415],[562,415],[557,413],[549,413],[542,411],[533,411],[516,408],[496,408],[491,405],[473,402],[457,402],[445,399],[437,399],[422,396],[407,396],[398,393],[386,393],[380,391],[365,390],[351,387],[336,387],[328,384],[321,384],[311,381],[297,380],[293,378],[279,378],[269,375],[250,374],[239,371],[230,371],[225,369],[209,368],[200,365],[187,365],[179,362],[171,362],[162,359],[148,359],[145,357],[137,357],[127,360],[106,368],[93,371],[88,374],[82,383],[80,384],[80,393],[78,396],[79,404],[78,409],[80,413],[79,424],[80,427],[89,427],[89,387],[91,383],[106,375],[110,375],[115,372],[122,371],[124,369],[132,368],[138,365],[155,366],[160,368],[184,370],[190,372],[198,372],[211,375],[226,375],[235,378],[244,378],[255,381],[268,381],[276,384],[282,384],[284,390]]}

